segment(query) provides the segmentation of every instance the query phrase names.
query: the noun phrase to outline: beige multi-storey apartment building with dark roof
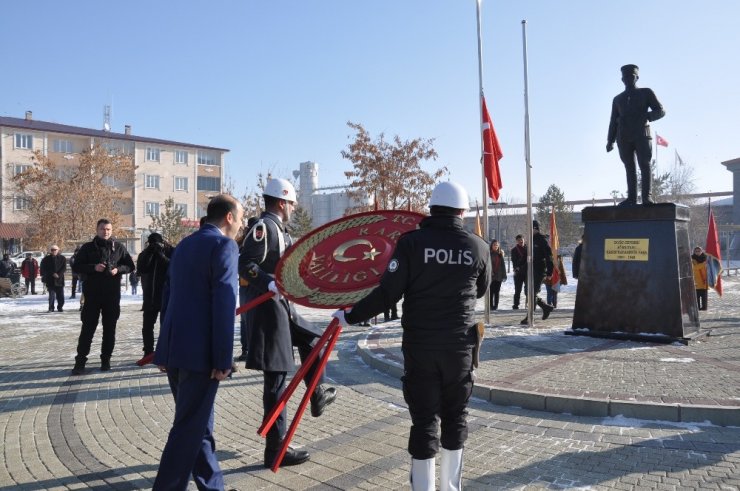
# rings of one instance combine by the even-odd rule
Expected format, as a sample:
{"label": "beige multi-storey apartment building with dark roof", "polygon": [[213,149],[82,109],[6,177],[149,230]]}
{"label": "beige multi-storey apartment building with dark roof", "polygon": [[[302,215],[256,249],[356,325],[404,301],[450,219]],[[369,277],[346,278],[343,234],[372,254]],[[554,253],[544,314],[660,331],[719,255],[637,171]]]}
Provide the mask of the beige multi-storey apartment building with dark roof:
{"label": "beige multi-storey apartment building with dark roof", "polygon": [[[151,215],[172,197],[190,223],[205,215],[208,199],[223,187],[228,149],[68,126],[33,119],[0,117],[0,223],[22,223],[24,197],[14,194],[12,177],[31,165],[38,150],[55,162],[74,165],[80,152],[100,143],[110,151],[133,155],[135,185],[121,203],[122,227],[136,237],[148,234]],[[128,194],[128,192],[127,192]]]}

